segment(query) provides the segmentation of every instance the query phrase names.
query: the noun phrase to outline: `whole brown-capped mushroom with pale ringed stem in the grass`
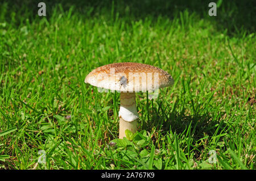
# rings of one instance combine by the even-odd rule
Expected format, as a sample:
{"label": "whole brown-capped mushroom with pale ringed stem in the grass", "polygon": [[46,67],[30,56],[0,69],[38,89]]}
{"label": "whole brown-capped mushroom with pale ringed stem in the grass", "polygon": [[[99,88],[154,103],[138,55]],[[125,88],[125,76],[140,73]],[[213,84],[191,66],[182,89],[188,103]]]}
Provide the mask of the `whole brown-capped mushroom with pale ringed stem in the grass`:
{"label": "whole brown-capped mushroom with pale ringed stem in the grass", "polygon": [[126,129],[137,131],[137,113],[135,92],[154,92],[171,86],[173,79],[166,71],[152,65],[133,62],[114,63],[101,66],[91,71],[85,83],[121,92],[119,110],[119,138],[125,137]]}

